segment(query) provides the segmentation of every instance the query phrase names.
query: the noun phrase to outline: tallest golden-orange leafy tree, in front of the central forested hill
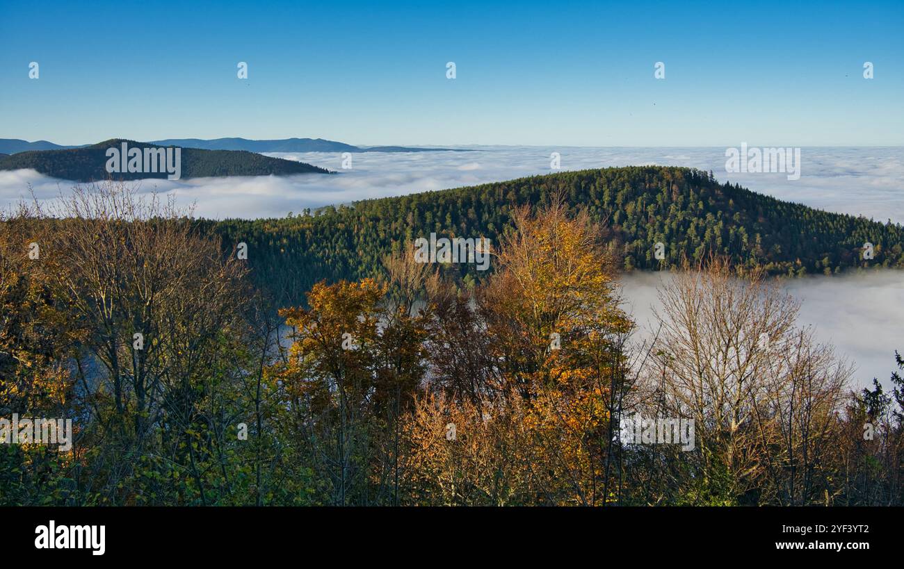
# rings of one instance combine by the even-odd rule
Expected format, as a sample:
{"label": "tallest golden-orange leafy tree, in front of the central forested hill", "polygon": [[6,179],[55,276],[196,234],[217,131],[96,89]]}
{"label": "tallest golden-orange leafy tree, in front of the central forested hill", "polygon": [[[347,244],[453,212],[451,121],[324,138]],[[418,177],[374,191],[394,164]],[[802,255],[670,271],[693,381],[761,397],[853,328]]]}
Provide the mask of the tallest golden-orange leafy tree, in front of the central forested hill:
{"label": "tallest golden-orange leafy tree, in front of the central forested hill", "polygon": [[[517,210],[513,219],[485,286],[463,292],[448,284],[432,298],[431,401],[452,415],[462,409],[474,415],[465,423],[467,448],[506,457],[494,471],[504,473],[499,481],[512,496],[601,503],[608,395],[624,367],[619,350],[632,324],[617,307],[601,229],[586,212],[572,214],[553,196],[541,210]],[[420,424],[433,416],[423,405]],[[437,421],[427,422],[430,432]],[[513,443],[510,435],[522,432]],[[477,443],[477,437],[491,438]],[[424,452],[428,460],[432,451]]]}

